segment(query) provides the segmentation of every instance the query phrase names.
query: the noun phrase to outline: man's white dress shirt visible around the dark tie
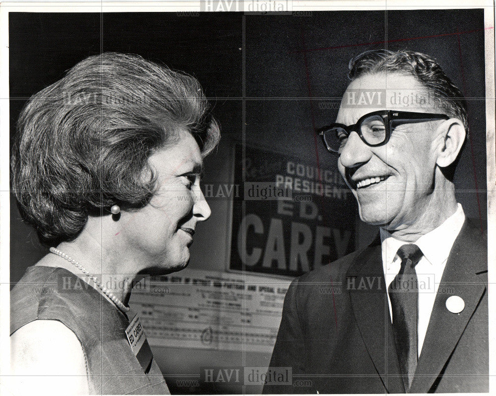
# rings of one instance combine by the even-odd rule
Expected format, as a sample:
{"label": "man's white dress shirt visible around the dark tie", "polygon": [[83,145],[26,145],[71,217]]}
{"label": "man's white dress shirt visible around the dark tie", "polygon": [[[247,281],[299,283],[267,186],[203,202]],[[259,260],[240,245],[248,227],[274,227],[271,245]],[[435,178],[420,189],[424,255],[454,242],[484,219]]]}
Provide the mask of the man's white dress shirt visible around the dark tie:
{"label": "man's white dress shirt visible around the dark tie", "polygon": [[[401,241],[391,236],[385,229],[380,228],[382,268],[388,287],[400,271],[401,259],[396,252],[401,245],[415,243],[422,250],[422,253],[424,253],[415,267],[419,283],[419,320],[417,331],[419,356],[426,337],[427,327],[429,326],[437,288],[441,282],[449,252],[464,222],[465,214],[463,213],[462,206],[458,204],[458,208],[453,215],[431,232],[422,235],[416,242]],[[387,299],[392,320],[389,294],[387,295]]]}

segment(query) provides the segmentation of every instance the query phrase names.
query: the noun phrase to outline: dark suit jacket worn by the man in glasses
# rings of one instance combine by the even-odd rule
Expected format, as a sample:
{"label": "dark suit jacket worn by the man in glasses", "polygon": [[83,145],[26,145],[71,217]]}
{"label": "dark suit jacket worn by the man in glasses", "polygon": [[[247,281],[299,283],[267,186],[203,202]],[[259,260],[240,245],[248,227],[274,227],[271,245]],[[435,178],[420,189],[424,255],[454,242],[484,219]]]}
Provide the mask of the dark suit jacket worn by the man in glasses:
{"label": "dark suit jacket worn by the man in glasses", "polygon": [[[449,254],[409,393],[489,392],[487,237],[475,224]],[[263,393],[405,393],[386,292],[379,238],[296,279],[270,366],[292,367],[299,386]],[[459,314],[451,295],[465,302]]]}

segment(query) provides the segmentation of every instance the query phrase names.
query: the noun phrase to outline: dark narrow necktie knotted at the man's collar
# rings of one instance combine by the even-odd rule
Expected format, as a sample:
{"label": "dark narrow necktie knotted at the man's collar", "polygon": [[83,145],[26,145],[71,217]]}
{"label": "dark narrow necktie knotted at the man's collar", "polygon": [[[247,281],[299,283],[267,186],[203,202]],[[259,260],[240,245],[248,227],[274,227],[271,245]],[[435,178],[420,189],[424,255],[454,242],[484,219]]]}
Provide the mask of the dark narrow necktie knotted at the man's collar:
{"label": "dark narrow necktie knotted at the man's collar", "polygon": [[412,385],[417,368],[417,325],[419,284],[415,266],[423,256],[417,245],[406,244],[397,252],[401,258],[400,272],[389,285],[387,292],[391,300],[393,334],[405,388]]}

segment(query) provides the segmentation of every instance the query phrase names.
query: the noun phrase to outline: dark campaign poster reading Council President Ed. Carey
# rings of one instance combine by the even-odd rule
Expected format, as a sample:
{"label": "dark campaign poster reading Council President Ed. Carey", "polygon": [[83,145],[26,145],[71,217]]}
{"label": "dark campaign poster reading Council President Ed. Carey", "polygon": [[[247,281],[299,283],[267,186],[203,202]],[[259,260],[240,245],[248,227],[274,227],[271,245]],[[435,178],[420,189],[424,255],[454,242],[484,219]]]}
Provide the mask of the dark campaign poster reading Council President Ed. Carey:
{"label": "dark campaign poster reading Council President Ed. Carey", "polygon": [[296,277],[355,249],[356,201],[337,169],[247,146],[243,163],[237,145],[235,182],[230,270]]}

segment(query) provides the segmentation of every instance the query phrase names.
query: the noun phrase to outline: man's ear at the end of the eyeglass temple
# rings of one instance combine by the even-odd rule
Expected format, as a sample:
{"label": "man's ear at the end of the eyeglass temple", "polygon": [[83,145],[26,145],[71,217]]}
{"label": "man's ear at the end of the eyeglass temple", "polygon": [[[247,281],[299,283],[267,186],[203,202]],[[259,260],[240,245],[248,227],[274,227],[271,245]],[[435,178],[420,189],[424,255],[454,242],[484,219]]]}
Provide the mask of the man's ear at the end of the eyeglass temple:
{"label": "man's ear at the end of the eyeglass temple", "polygon": [[458,157],[465,142],[465,127],[458,118],[450,118],[438,127],[438,147],[436,164],[441,168],[449,167]]}

